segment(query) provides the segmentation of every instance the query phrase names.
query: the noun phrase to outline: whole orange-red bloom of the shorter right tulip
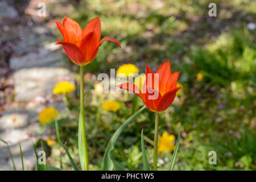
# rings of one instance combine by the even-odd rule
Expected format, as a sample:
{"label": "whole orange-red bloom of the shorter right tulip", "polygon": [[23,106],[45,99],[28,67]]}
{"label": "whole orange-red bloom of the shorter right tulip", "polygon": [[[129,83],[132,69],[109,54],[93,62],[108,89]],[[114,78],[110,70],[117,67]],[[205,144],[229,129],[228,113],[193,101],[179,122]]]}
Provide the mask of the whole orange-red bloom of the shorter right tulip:
{"label": "whole orange-red bloom of the shorter right tulip", "polygon": [[117,85],[117,87],[137,94],[148,109],[157,112],[164,111],[174,101],[177,90],[181,89],[181,86],[176,87],[180,72],[171,73],[169,61],[162,64],[156,73],[152,72],[147,66],[146,80],[142,90],[139,90],[138,86],[131,83]]}

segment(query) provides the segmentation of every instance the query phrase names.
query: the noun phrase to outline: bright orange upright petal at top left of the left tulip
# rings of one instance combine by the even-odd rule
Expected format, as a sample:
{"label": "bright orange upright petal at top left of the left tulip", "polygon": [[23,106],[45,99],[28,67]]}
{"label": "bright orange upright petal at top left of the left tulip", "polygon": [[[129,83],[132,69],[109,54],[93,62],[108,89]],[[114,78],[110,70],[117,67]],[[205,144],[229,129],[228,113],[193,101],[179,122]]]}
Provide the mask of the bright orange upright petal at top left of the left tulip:
{"label": "bright orange upright petal at top left of the left tulip", "polygon": [[82,38],[82,28],[80,25],[73,19],[65,17],[63,19],[64,27],[64,42],[69,42],[79,46],[80,40]]}

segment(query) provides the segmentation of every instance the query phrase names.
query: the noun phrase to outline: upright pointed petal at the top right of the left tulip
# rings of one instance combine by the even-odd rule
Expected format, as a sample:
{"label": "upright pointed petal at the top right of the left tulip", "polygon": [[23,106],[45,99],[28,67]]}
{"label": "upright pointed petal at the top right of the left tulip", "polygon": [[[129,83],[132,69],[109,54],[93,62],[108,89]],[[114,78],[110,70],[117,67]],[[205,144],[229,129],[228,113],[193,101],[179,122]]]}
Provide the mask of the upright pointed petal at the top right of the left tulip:
{"label": "upright pointed petal at the top right of the left tulip", "polygon": [[90,32],[94,32],[96,34],[95,41],[98,43],[101,39],[101,20],[100,18],[93,18],[90,20],[86,27],[84,28],[84,31],[82,32],[82,37],[86,36],[86,34],[89,34]]}

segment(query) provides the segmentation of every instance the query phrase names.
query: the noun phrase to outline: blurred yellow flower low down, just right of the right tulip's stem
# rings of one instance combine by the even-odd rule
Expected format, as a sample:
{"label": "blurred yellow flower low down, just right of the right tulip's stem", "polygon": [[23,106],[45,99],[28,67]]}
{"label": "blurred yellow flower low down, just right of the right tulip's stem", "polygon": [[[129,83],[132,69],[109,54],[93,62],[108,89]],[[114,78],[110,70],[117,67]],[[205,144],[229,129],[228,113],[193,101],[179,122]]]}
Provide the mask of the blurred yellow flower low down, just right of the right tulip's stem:
{"label": "blurred yellow flower low down, just right of the right tulip's stem", "polygon": [[167,133],[167,131],[164,131],[163,135],[159,137],[159,146],[158,146],[158,152],[172,152],[174,151],[175,145],[175,136],[170,135]]}

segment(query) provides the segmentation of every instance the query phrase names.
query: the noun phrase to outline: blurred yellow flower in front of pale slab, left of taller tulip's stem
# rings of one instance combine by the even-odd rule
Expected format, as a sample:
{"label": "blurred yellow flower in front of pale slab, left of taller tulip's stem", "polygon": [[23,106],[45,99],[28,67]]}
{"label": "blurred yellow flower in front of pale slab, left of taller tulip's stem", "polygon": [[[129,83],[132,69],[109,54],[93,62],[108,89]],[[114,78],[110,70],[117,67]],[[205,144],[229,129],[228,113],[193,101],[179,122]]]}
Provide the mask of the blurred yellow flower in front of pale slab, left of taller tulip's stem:
{"label": "blurred yellow flower in front of pale slab, left of taller tulip's stem", "polygon": [[53,89],[53,94],[59,95],[59,94],[67,94],[67,93],[72,93],[76,89],[75,85],[72,84],[69,81],[60,81],[58,82],[54,89]]}

